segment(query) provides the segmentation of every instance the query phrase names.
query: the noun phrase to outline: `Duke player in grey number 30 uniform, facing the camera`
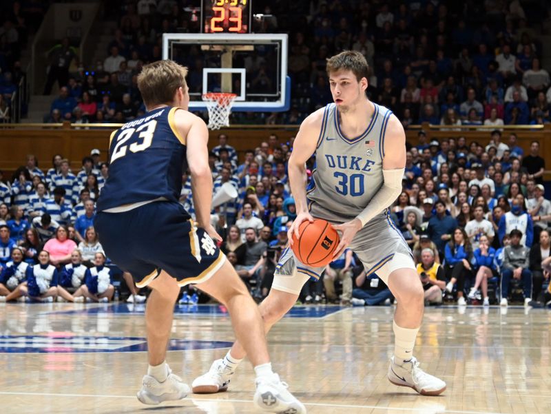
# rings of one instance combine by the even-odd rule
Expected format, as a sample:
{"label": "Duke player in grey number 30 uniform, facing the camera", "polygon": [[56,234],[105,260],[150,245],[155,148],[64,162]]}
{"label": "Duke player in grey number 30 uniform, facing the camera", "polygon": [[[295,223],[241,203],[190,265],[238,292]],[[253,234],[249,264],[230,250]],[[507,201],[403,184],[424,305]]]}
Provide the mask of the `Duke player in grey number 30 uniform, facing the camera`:
{"label": "Duke player in grey number 30 uniform, facing the camera", "polygon": [[[439,395],[446,383],[419,368],[413,356],[424,311],[424,293],[405,240],[388,216],[402,191],[406,137],[402,124],[385,107],[367,99],[368,65],[359,52],[345,51],[327,62],[334,103],[314,112],[300,126],[289,159],[289,180],[297,218],[289,240],[305,220],[323,218],[340,232],[334,257],[350,247],[367,273],[377,272],[397,299],[395,349],[388,380],[424,395]],[[355,138],[354,138],[355,137]],[[306,189],[305,163],[315,154],[316,168]],[[269,296],[260,304],[266,331],[293,307],[302,285],[319,279],[323,268],[299,262],[291,249],[282,253]],[[245,351],[233,344],[223,360],[196,378],[194,392],[225,391]]]}

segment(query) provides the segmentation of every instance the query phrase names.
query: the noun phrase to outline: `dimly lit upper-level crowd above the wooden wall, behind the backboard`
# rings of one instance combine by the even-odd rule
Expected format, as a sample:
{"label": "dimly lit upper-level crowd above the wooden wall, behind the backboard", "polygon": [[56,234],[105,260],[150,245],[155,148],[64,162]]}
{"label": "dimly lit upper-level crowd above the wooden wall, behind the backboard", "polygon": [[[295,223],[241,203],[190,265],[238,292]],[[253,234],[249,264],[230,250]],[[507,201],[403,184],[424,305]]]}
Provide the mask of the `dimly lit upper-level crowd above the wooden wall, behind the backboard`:
{"label": "dimly lit upper-level crowd above the wooden wall, behind the backboard", "polygon": [[[163,32],[200,32],[200,19],[193,19],[193,8],[185,6],[177,0],[106,4],[118,27],[105,60],[60,81],[60,86],[69,83],[60,99],[70,101],[63,102],[66,107],[52,105],[50,120],[123,122],[141,114],[145,108],[136,74],[145,63],[160,59]],[[542,68],[542,45],[534,29],[549,16],[544,1],[320,0],[256,2],[253,7],[275,16],[257,23],[255,32],[289,34],[291,110],[236,112],[232,123],[300,123],[331,101],[325,61],[345,49],[364,54],[372,69],[368,95],[390,107],[404,127],[551,121],[550,75]],[[220,65],[201,54],[197,48],[193,56],[175,56],[190,68],[191,88],[202,84],[203,65]],[[243,65],[253,91],[275,79],[277,65],[266,56],[251,59]]]}

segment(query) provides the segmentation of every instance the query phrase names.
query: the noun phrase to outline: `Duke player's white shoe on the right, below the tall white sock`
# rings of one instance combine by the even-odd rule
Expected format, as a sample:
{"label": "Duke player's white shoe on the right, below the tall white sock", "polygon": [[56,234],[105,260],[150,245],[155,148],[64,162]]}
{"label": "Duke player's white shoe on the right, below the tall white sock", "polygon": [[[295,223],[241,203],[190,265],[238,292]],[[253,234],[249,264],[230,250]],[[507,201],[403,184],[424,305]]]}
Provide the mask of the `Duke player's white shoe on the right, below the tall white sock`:
{"label": "Duke player's white shoe on the right, below the tall white sock", "polygon": [[439,395],[446,390],[446,382],[420,369],[414,357],[402,364],[397,364],[394,357],[391,358],[388,380],[395,385],[409,386],[422,395]]}

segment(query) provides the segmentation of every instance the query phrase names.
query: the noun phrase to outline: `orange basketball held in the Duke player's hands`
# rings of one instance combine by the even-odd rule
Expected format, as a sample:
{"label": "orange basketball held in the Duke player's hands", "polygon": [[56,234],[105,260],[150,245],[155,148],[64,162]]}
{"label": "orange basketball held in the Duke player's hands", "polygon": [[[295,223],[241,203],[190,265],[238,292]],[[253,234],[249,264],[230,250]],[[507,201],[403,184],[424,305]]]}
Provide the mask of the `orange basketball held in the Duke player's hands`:
{"label": "orange basketball held in the Duke player's hands", "polygon": [[297,239],[293,234],[293,252],[304,265],[322,267],[333,260],[340,237],[331,223],[320,218],[303,221],[298,235]]}

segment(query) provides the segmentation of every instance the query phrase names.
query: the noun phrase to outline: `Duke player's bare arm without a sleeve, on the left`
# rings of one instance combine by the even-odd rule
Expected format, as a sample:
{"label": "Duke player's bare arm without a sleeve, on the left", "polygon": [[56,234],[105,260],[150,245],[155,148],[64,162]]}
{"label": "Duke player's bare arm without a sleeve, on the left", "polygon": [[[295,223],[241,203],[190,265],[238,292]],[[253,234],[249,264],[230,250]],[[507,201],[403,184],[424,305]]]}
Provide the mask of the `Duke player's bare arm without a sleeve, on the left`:
{"label": "Duke player's bare arm without a sleeve, on the left", "polygon": [[289,228],[289,243],[293,245],[293,232],[298,237],[298,227],[304,220],[313,221],[308,211],[306,202],[306,161],[310,159],[315,152],[318,144],[318,135],[322,127],[323,109],[317,110],[308,116],[300,125],[300,130],[293,143],[293,152],[289,158],[289,184],[291,185],[291,194],[295,199],[297,217],[293,225]]}

